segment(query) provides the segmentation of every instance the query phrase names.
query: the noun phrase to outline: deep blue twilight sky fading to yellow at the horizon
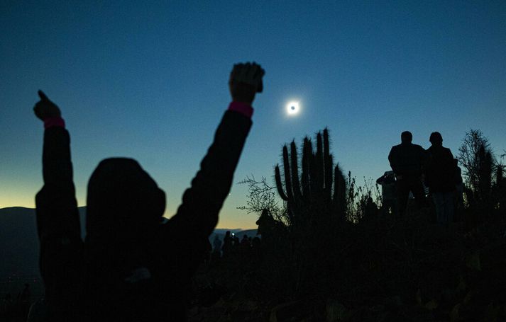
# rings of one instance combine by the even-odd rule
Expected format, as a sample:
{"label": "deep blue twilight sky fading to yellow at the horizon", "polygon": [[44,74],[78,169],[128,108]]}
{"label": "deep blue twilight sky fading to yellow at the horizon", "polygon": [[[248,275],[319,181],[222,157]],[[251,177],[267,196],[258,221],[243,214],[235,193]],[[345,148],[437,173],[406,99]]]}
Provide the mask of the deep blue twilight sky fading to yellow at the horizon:
{"label": "deep blue twilight sky fading to yellow at the horizon", "polygon": [[[480,129],[506,149],[506,1],[0,2],[0,208],[42,186],[43,89],[72,137],[79,206],[101,159],[130,156],[180,204],[230,101],[234,62],[266,74],[236,171],[273,180],[282,144],[324,127],[345,171],[378,178],[410,130],[457,153]],[[285,104],[301,113],[287,117]],[[233,185],[219,227],[251,228]]]}

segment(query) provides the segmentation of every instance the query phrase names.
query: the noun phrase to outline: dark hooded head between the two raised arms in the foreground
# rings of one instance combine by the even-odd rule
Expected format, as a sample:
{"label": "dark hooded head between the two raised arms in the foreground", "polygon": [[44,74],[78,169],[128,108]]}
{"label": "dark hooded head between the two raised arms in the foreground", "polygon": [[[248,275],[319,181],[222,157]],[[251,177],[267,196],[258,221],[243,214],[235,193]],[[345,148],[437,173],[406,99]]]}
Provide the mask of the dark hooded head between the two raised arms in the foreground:
{"label": "dark hooded head between the two raised arms in the foreground", "polygon": [[153,229],[165,211],[165,192],[133,159],[99,163],[89,178],[87,241],[136,238]]}

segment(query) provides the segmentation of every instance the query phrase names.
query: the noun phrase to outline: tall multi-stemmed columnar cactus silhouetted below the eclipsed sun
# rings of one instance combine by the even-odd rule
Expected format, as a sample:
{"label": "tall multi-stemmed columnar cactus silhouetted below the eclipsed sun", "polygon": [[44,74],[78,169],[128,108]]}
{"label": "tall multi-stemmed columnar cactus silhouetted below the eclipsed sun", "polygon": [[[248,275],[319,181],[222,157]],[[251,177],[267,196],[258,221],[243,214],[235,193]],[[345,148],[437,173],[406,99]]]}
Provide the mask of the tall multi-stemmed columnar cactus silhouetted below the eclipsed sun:
{"label": "tall multi-stemmed columnar cactus silhouetted below the eclipsed sun", "polygon": [[[317,149],[312,141],[304,138],[300,155],[302,170],[299,171],[299,154],[295,142],[283,146],[283,175],[280,166],[275,167],[277,191],[287,202],[290,224],[313,226],[329,224],[343,219],[346,212],[346,180],[339,166],[334,166],[330,154],[329,131],[317,134]],[[284,186],[284,187],[283,187]]]}

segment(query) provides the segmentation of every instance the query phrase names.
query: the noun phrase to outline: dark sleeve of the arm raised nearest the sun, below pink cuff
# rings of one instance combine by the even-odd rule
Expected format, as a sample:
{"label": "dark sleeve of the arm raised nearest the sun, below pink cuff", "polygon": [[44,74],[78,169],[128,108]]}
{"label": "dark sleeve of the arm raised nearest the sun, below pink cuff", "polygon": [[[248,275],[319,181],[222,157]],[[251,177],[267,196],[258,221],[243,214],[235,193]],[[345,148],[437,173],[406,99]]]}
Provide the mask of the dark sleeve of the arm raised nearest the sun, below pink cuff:
{"label": "dark sleeve of the arm raised nearest the sun, below pink cuff", "polygon": [[[208,237],[231,189],[233,173],[251,128],[249,117],[226,111],[214,141],[200,163],[191,187],[185,190],[177,213],[165,224],[164,239],[180,263],[178,270],[192,274],[209,252]],[[184,265],[183,265],[184,264]]]}

